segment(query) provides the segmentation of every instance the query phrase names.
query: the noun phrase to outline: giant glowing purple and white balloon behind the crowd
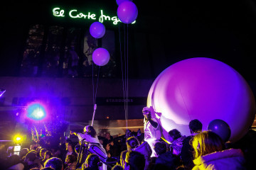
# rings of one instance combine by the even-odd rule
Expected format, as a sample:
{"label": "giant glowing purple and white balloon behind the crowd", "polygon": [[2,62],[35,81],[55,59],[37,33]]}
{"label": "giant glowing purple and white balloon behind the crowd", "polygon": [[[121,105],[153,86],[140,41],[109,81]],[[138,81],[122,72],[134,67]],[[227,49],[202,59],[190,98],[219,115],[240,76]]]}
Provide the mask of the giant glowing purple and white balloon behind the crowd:
{"label": "giant glowing purple and white balloon behind the crowd", "polygon": [[204,57],[177,62],[161,72],[151,86],[147,106],[159,113],[166,139],[174,128],[190,135],[190,120],[200,120],[207,130],[211,120],[221,119],[230,125],[230,141],[236,141],[252,125],[256,111],[245,79],[227,64]]}

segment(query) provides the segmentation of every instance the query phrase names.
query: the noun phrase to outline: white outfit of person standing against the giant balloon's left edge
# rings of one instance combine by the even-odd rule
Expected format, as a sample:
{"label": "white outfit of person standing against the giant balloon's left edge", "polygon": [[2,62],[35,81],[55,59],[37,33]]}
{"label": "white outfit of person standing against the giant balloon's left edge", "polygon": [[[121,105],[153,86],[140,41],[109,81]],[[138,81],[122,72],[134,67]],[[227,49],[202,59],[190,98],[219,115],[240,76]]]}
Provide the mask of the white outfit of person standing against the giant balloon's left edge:
{"label": "white outfit of person standing against the giant balloon's left edge", "polygon": [[154,128],[148,120],[144,118],[144,141],[149,143],[151,147],[152,154],[151,157],[157,157],[156,152],[154,151],[154,144],[160,140],[161,138],[161,131],[159,127],[159,123],[156,119],[152,118],[154,122],[157,123],[157,127]]}

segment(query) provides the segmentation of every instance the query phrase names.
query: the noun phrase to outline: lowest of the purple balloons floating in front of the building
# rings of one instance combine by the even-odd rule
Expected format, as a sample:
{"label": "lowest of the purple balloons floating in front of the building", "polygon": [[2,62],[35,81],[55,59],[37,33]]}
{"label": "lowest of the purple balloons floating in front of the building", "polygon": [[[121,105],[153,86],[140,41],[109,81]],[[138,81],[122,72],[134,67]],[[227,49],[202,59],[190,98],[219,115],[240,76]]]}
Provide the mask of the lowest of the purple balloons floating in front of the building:
{"label": "lowest of the purple balloons floating in front of the building", "polygon": [[92,61],[98,66],[104,66],[110,61],[110,53],[105,48],[97,48],[92,53]]}

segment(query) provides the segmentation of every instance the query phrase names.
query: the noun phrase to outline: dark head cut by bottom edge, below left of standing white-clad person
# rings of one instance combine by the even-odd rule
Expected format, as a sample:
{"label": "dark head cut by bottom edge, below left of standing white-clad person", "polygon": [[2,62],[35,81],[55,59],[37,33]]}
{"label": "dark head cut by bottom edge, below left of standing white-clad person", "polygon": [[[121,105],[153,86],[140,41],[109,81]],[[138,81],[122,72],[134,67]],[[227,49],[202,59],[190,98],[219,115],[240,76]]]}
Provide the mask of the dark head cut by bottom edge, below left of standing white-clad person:
{"label": "dark head cut by bottom edge, below left of standing white-clad person", "polygon": [[125,170],[139,170],[145,167],[145,157],[136,151],[128,151],[125,157]]}

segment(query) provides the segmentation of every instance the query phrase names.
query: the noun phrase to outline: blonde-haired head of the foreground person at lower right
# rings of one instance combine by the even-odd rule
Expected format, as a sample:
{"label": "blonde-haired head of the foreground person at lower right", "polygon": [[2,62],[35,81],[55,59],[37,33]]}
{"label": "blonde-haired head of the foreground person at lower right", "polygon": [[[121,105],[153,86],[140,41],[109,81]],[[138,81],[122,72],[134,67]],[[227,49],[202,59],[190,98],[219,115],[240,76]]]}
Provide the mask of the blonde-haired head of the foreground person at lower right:
{"label": "blonde-haired head of the foreground person at lower right", "polygon": [[225,148],[223,140],[215,132],[211,132],[210,130],[195,135],[192,145],[195,150],[195,158],[222,151]]}

